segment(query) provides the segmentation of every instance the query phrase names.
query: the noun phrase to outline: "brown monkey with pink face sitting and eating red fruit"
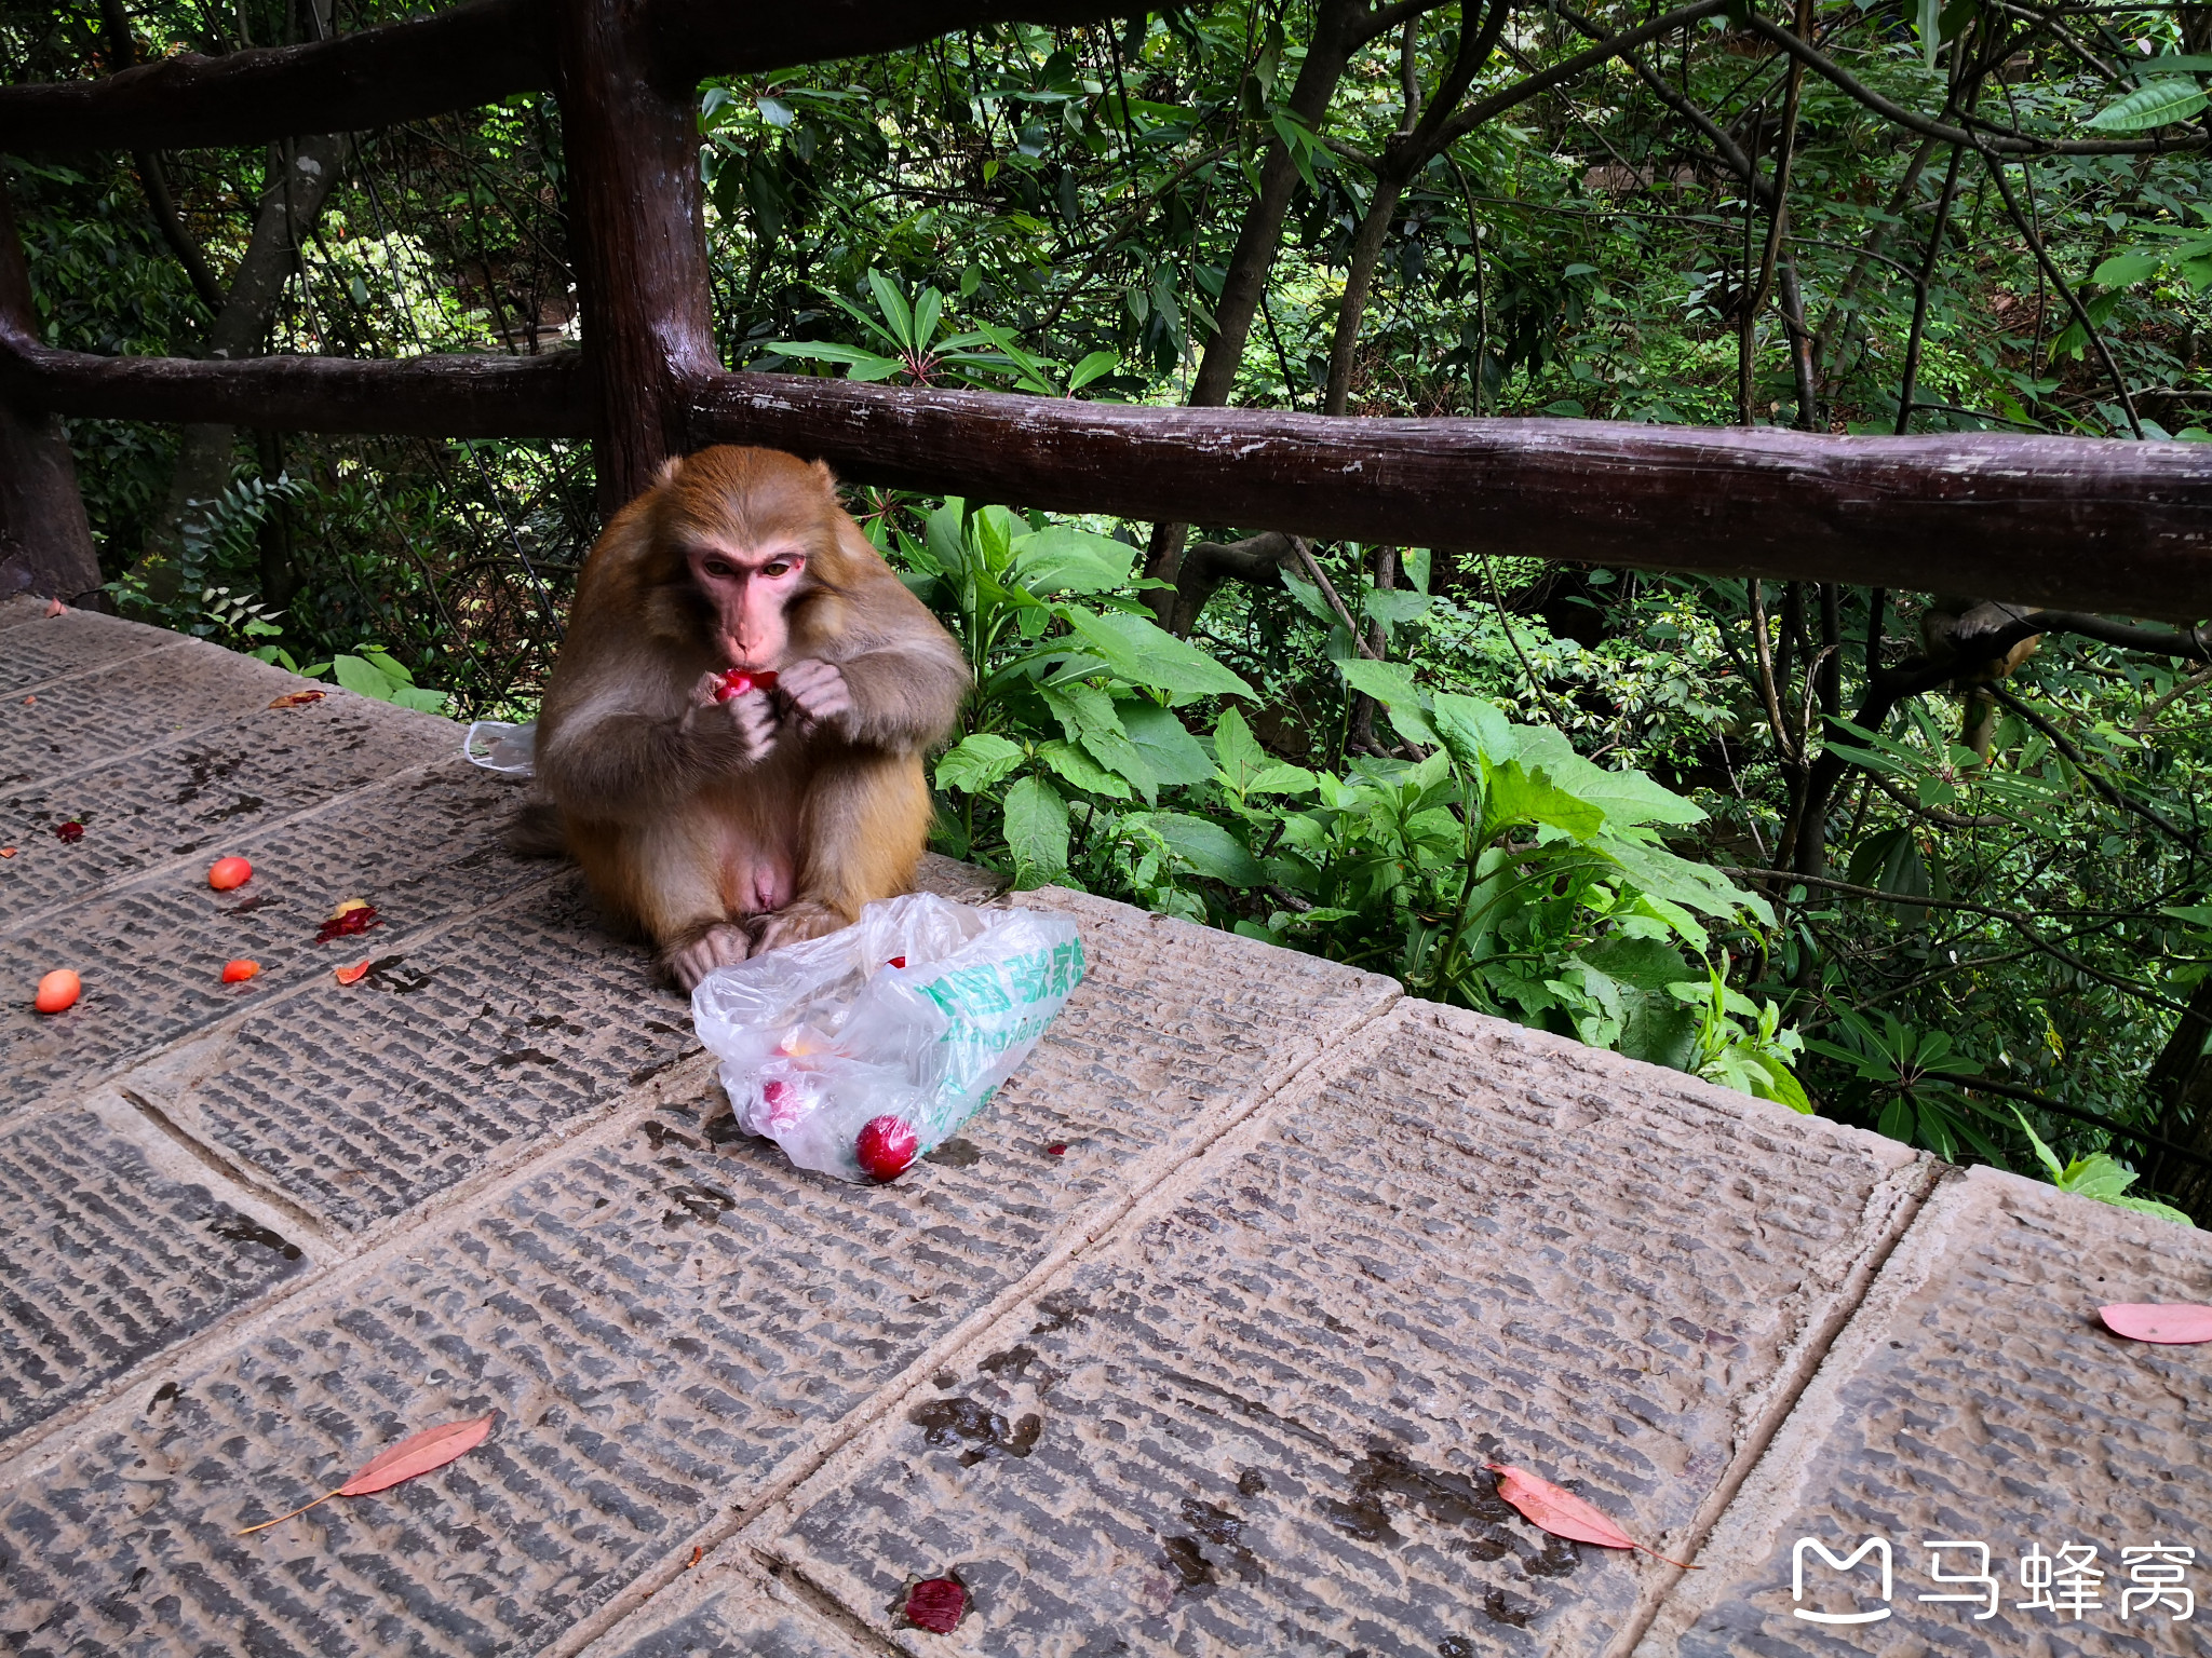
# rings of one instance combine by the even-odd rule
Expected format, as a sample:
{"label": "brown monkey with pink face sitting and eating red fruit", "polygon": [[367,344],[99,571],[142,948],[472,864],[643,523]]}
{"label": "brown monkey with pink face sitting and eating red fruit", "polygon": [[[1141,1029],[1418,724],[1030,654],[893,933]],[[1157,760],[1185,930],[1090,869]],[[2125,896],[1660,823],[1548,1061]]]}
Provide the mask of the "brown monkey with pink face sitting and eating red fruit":
{"label": "brown monkey with pink face sitting and eating red fruit", "polygon": [[[717,701],[728,670],[779,679]],[[599,902],[688,990],[911,886],[922,756],[967,683],[827,466],[706,449],[668,462],[591,548],[538,778]],[[546,827],[540,809],[518,844]]]}

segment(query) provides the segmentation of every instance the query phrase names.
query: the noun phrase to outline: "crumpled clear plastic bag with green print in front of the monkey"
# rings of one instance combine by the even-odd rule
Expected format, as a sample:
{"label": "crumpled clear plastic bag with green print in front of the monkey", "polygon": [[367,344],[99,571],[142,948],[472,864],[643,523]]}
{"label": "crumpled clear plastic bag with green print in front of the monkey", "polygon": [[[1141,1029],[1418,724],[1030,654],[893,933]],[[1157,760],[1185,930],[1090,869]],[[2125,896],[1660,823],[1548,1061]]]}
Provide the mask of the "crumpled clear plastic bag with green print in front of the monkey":
{"label": "crumpled clear plastic bag with green print in front of the monkey", "polygon": [[[1082,977],[1064,915],[907,893],[841,933],[708,973],[692,1024],[721,1057],[739,1127],[803,1169],[891,1178],[982,1110]],[[889,1172],[880,1158],[863,1169],[860,1132],[885,1116],[911,1127],[914,1147]]]}

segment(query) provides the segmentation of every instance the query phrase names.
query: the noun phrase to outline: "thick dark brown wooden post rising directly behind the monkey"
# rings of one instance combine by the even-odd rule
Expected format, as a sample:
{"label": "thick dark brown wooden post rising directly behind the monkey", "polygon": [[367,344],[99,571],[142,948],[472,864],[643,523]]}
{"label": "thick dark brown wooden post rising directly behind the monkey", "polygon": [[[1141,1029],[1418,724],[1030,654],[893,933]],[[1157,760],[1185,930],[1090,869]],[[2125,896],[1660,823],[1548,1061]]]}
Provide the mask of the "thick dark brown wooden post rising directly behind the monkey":
{"label": "thick dark brown wooden post rising directly behind the monkey", "polygon": [[692,387],[721,365],[708,305],[695,86],[657,80],[641,0],[560,0],[599,515],[690,449]]}

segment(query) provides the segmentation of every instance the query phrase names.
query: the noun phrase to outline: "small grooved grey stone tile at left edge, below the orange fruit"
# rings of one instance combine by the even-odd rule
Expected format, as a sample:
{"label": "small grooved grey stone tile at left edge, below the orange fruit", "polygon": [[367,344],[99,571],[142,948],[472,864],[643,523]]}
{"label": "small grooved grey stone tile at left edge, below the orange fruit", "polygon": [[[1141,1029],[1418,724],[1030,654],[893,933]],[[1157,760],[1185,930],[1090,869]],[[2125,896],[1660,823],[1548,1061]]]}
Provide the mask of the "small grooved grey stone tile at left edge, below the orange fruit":
{"label": "small grooved grey stone tile at left edge, below the orange fruit", "polygon": [[95,1112],[0,1134],[0,1441],[301,1269]]}

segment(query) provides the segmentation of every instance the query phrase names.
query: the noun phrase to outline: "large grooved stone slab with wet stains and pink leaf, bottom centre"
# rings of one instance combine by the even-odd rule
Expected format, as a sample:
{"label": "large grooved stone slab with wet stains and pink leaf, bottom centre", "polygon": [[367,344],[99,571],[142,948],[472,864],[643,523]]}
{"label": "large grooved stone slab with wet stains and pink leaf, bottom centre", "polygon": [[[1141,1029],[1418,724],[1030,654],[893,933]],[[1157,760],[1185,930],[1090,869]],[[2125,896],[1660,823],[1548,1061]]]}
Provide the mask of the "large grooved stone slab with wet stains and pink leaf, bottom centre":
{"label": "large grooved stone slab with wet stains and pink leaf, bottom centre", "polygon": [[1482,1463],[1666,1547],[1920,1169],[1429,1004],[1371,1041],[752,1545],[885,1636],[958,1572],[960,1651],[1597,1654],[1666,1567]]}

